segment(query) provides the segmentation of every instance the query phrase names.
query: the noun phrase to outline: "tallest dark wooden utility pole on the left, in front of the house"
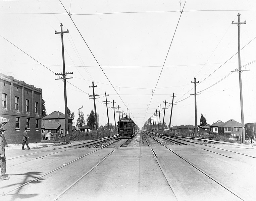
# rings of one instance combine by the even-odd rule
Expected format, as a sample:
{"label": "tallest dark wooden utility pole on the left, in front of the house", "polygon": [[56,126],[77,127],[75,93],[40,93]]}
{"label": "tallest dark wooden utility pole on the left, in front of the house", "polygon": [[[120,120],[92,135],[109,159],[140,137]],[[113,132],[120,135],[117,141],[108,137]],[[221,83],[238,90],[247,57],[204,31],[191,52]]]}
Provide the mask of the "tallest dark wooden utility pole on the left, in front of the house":
{"label": "tallest dark wooden utility pole on the left, in front of the house", "polygon": [[65,102],[65,136],[66,136],[66,142],[69,143],[69,134],[68,134],[68,118],[67,118],[67,91],[66,91],[66,79],[72,78],[68,77],[66,78],[67,74],[73,74],[73,72],[66,73],[65,71],[65,59],[64,59],[64,42],[63,42],[63,35],[65,33],[68,33],[67,31],[62,30],[62,23],[60,23],[60,32],[55,31],[55,34],[61,35],[61,46],[62,46],[62,64],[63,64],[63,73],[55,73],[55,75],[63,75],[63,78],[55,78],[55,80],[63,79],[64,83],[64,102]]}

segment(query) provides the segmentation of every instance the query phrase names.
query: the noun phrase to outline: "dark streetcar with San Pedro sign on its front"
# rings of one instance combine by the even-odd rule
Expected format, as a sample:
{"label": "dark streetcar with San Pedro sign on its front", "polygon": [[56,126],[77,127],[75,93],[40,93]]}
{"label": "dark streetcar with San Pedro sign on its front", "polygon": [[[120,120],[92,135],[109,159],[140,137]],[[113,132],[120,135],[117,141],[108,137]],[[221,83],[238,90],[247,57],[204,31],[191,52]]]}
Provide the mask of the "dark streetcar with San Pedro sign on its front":
{"label": "dark streetcar with San Pedro sign on its front", "polygon": [[118,137],[132,138],[137,132],[137,125],[129,117],[121,118],[118,122]]}

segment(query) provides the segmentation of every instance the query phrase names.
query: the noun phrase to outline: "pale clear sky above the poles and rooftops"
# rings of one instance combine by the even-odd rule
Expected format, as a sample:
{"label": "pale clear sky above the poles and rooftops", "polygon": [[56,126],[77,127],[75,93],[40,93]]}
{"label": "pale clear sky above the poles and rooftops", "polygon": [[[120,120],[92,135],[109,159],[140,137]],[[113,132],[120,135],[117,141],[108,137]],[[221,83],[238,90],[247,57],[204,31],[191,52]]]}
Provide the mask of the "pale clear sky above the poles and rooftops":
{"label": "pale clear sky above the poles and rooftops", "polygon": [[[180,11],[183,12],[180,12]],[[244,122],[256,122],[254,0],[7,0],[0,1],[0,72],[42,89],[47,114],[65,112],[62,70],[63,24],[67,106],[94,110],[99,125],[114,124],[120,107],[141,128],[156,113],[171,126],[234,119],[241,123],[238,72],[240,26]],[[69,14],[68,14],[69,13]],[[243,49],[242,49],[243,48]],[[248,71],[250,70],[250,71]],[[127,109],[128,108],[128,109]],[[115,110],[116,111],[116,110]],[[116,122],[119,120],[115,113]]]}

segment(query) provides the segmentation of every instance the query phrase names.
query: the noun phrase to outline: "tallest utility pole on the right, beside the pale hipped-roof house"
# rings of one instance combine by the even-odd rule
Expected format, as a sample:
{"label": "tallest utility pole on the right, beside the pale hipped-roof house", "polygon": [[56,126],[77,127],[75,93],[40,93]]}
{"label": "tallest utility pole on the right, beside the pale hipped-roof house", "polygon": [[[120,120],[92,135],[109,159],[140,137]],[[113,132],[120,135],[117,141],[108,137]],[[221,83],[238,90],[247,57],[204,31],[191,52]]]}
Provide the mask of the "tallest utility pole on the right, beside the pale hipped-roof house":
{"label": "tallest utility pole on the right, beside the pale hipped-roof house", "polygon": [[[245,143],[245,124],[244,124],[244,107],[243,107],[243,91],[242,91],[242,76],[241,73],[241,60],[240,60],[240,24],[246,24],[245,22],[240,22],[240,13],[238,13],[238,22],[232,22],[232,24],[237,24],[238,26],[238,73],[239,73],[239,87],[240,87],[240,105],[241,105],[241,120],[242,120],[242,143]],[[233,71],[232,71],[233,72]]]}

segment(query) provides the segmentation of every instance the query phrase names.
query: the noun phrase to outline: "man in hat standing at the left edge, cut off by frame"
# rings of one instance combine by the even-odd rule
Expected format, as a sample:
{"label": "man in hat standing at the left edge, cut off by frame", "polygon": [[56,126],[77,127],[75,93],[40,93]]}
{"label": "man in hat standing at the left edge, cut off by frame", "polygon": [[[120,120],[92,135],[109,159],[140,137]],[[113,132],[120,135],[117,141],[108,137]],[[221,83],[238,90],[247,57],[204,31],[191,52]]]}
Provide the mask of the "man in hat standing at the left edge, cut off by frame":
{"label": "man in hat standing at the left edge, cut off by frame", "polygon": [[1,166],[1,180],[10,179],[5,175],[6,161],[5,161],[5,148],[4,148],[4,129],[0,129],[0,166]]}

